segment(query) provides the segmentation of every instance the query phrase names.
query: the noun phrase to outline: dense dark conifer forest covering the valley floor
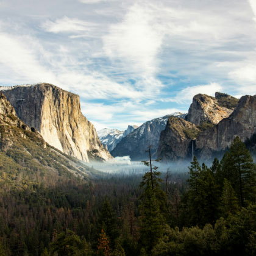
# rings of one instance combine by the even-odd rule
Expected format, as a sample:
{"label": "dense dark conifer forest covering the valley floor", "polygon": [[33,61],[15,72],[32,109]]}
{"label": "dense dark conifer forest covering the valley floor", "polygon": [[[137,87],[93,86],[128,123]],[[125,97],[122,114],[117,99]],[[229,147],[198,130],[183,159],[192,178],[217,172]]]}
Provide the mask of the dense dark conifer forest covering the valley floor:
{"label": "dense dark conifer forest covering the valley floor", "polygon": [[146,161],[143,177],[51,181],[31,168],[24,183],[2,159],[0,255],[256,255],[256,167],[238,137],[186,173]]}

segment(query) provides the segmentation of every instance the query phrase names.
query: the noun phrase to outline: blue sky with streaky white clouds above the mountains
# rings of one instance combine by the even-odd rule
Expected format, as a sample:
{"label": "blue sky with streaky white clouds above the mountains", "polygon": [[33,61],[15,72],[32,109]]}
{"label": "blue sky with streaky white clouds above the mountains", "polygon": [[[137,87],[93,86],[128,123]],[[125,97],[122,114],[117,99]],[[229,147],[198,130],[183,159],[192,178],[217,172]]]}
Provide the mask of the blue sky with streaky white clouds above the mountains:
{"label": "blue sky with streaky white clouds above the mountains", "polygon": [[0,85],[37,82],[96,129],[256,94],[256,0],[0,0]]}

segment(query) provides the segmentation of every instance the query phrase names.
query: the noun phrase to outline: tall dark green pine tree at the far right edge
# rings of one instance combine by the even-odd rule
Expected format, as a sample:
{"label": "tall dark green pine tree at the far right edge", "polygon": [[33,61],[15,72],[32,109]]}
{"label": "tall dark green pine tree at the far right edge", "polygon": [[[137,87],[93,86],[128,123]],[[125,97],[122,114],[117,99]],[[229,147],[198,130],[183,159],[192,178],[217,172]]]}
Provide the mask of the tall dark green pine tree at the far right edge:
{"label": "tall dark green pine tree at the far right edge", "polygon": [[230,181],[241,207],[248,201],[255,202],[256,167],[239,137],[222,158],[222,176]]}

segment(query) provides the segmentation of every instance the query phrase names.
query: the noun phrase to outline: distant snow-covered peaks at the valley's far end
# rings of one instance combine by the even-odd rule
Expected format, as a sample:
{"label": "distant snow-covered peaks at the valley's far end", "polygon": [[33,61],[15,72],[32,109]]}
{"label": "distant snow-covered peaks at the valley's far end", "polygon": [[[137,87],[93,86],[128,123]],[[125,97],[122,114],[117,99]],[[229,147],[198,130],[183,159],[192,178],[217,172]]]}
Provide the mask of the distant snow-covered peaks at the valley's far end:
{"label": "distant snow-covered peaks at the valley's far end", "polygon": [[113,151],[115,149],[116,144],[119,143],[119,141],[122,140],[122,138],[126,137],[129,133],[133,132],[138,128],[138,126],[128,126],[126,130],[118,130],[118,129],[108,129],[104,128],[99,130],[98,136],[99,140],[101,140],[101,143],[104,144],[105,148],[108,149],[108,151]]}

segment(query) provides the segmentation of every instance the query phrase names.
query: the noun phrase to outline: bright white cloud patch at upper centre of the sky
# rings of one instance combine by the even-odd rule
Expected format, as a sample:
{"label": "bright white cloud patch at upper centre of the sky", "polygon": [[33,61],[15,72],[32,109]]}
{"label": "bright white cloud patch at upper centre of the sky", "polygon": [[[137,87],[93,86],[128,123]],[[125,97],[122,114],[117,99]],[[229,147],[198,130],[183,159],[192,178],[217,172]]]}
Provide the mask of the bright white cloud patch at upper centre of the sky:
{"label": "bright white cloud patch at upper centre of the sky", "polygon": [[105,54],[121,60],[137,73],[155,74],[163,35],[154,25],[154,19],[148,5],[132,5],[123,21],[110,26],[108,35],[103,37]]}

